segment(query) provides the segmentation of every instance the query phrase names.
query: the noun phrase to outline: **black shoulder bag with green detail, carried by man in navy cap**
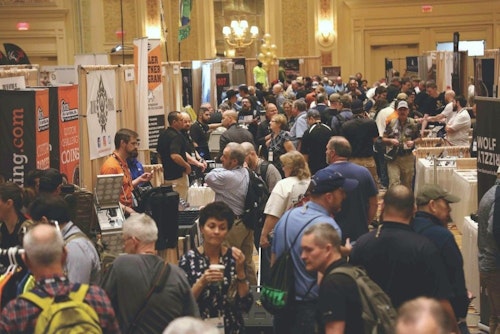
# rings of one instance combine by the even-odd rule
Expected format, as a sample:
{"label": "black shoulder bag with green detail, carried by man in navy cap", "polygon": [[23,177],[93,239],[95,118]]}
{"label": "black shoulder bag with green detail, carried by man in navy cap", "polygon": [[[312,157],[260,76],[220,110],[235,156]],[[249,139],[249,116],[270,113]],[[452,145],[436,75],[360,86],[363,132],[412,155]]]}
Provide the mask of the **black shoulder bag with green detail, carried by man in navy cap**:
{"label": "black shoulder bag with green detail, carried by man in navy cap", "polygon": [[[305,223],[293,239],[290,246],[287,244],[287,230],[286,224],[290,212],[285,218],[284,238],[285,238],[285,251],[276,259],[276,262],[271,267],[271,281],[264,284],[260,290],[260,302],[262,306],[272,315],[284,314],[288,311],[291,303],[295,300],[295,274],[294,264],[292,259],[292,249],[295,246],[302,231],[316,218],[314,217]],[[306,297],[315,283],[312,284],[303,297]]]}

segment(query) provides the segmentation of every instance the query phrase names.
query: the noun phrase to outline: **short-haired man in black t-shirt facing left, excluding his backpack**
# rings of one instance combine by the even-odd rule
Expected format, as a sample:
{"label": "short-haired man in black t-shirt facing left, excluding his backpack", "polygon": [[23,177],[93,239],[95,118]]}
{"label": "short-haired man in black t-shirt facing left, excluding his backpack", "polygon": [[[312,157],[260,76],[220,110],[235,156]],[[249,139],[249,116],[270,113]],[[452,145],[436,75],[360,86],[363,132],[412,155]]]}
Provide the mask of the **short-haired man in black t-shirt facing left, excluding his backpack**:
{"label": "short-haired man in black t-shirt facing left, excluding his backpack", "polygon": [[[301,258],[307,271],[318,271],[325,275],[319,286],[318,311],[320,333],[363,333],[361,299],[356,282],[341,273],[330,273],[338,267],[351,265],[340,253],[340,237],[335,229],[326,223],[307,228],[302,237]],[[336,333],[336,332],[335,332]]]}

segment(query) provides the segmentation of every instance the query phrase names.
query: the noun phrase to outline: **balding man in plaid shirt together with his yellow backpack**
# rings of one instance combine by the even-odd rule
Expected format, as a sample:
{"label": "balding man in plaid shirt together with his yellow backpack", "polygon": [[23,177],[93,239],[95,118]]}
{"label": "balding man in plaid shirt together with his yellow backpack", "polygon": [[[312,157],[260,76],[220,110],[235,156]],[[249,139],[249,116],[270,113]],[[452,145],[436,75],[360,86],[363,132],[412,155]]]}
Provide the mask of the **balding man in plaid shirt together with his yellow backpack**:
{"label": "balding man in plaid shirt together with his yellow backpack", "polygon": [[[64,326],[79,333],[120,333],[104,290],[72,283],[64,275],[67,252],[62,235],[54,226],[35,226],[25,235],[23,246],[22,258],[36,285],[3,309],[1,333],[55,333]],[[69,307],[55,313],[56,308],[64,306]]]}

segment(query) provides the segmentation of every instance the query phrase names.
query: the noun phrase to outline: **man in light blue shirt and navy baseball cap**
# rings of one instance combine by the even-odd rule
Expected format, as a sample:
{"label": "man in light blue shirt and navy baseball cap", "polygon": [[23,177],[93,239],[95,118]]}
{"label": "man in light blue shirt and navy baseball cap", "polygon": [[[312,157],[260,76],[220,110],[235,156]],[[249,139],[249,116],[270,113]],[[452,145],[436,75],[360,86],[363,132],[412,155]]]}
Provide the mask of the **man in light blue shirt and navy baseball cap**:
{"label": "man in light blue shirt and navy baseball cap", "polygon": [[357,186],[357,180],[345,178],[342,174],[328,168],[320,169],[311,179],[309,186],[311,200],[302,207],[285,212],[278,221],[272,240],[271,266],[286,249],[292,247],[295,238],[298,242],[295,242],[291,248],[295,276],[295,301],[290,307],[290,312],[274,317],[275,333],[315,333],[317,279],[311,276],[304,267],[301,260],[300,240],[307,227],[319,223],[330,224],[341,235],[340,228],[332,215],[341,210],[346,191],[354,190]]}

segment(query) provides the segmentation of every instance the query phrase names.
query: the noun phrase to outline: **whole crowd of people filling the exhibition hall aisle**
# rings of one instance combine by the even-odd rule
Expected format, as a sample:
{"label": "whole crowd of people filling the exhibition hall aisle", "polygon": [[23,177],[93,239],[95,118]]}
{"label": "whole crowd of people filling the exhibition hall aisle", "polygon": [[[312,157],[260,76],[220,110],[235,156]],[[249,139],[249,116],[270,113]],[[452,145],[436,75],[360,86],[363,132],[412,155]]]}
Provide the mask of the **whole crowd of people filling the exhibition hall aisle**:
{"label": "whole crowd of people filling the exhibition hall aisle", "polygon": [[[100,171],[124,175],[120,203],[128,217],[126,254],[102,270],[91,240],[71,221],[60,194],[63,175],[36,171],[24,190],[0,184],[0,247],[25,250],[22,270],[3,290],[0,331],[34,330],[41,308],[14,292],[32,275],[33,291],[44,297],[90,284],[84,302],[106,333],[158,333],[169,324],[179,329],[166,333],[188,327],[245,333],[257,271],[262,284],[269,282],[270,267],[298,238],[291,249],[295,296],[287,313],[274,317],[275,333],[361,333],[355,282],[330,273],[349,266],[365,268],[399,309],[396,333],[468,333],[471,296],[447,229],[449,204],[460,199],[439,185],[412,190],[412,152],[424,129],[442,127],[447,144],[469,145],[467,106],[451,90],[439,94],[432,81],[394,77],[368,88],[358,73],[347,83],[318,76],[275,82],[268,92],[242,85],[227,91],[216,110],[202,104],[196,120],[170,112],[157,147],[165,184],[187,200],[198,171],[195,178],[202,175],[215,192],[200,210],[203,245],[180,254],[178,266],[156,254],[157,224],[135,210],[134,188],[151,180],[137,161],[135,131],[116,133],[115,151]],[[220,127],[226,130],[211,156],[209,137]],[[221,167],[209,168],[211,158]],[[270,191],[262,226],[243,219],[250,171]],[[488,246],[500,256],[495,243]],[[255,248],[262,250],[259,269]],[[184,317],[206,321],[188,325],[192,318]]]}

